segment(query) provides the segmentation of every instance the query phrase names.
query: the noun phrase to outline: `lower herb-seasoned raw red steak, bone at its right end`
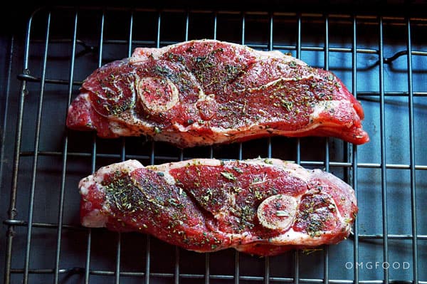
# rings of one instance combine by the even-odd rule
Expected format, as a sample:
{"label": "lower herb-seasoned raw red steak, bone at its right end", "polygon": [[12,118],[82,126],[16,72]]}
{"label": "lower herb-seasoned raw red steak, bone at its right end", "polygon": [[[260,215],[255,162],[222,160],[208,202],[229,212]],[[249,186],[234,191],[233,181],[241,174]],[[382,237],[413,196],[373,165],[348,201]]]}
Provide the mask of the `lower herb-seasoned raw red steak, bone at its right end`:
{"label": "lower herb-seasoned raw red steak, bone at its right end", "polygon": [[128,160],[102,167],[79,188],[83,226],[149,233],[199,252],[273,256],[338,243],[358,210],[341,179],[279,159],[148,167]]}

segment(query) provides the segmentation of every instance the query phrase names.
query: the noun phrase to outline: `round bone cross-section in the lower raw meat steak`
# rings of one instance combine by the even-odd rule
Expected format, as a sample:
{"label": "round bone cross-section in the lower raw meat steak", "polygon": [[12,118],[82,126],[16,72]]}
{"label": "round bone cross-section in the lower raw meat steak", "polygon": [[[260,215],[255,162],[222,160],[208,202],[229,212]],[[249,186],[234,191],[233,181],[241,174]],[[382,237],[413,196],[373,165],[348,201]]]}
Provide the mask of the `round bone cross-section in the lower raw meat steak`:
{"label": "round bone cross-section in the lower raw meat steak", "polygon": [[297,214],[297,204],[297,199],[293,196],[284,194],[270,196],[258,206],[258,220],[265,228],[287,230],[292,226]]}

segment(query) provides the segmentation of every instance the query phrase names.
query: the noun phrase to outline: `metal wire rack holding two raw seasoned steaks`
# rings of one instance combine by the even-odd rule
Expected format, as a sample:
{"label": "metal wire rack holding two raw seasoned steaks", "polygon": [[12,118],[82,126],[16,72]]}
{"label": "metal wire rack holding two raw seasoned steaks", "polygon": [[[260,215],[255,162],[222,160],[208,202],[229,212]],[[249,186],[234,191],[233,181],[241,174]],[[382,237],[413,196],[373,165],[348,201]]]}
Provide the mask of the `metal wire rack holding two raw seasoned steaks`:
{"label": "metal wire rack holding two raw seasoned steaks", "polygon": [[[15,139],[9,138],[15,152],[4,283],[427,283],[426,30],[427,18],[386,15],[35,11],[18,75],[21,91],[10,94],[19,96],[19,105],[9,113],[17,120]],[[100,140],[65,129],[67,107],[92,70],[137,46],[193,38],[280,50],[334,71],[362,101],[371,142],[356,147],[332,138],[273,137],[181,150],[143,137]],[[150,236],[78,223],[77,182],[102,165],[258,155],[322,167],[351,184],[360,206],[351,238],[310,254],[254,258],[232,250],[191,253]]]}

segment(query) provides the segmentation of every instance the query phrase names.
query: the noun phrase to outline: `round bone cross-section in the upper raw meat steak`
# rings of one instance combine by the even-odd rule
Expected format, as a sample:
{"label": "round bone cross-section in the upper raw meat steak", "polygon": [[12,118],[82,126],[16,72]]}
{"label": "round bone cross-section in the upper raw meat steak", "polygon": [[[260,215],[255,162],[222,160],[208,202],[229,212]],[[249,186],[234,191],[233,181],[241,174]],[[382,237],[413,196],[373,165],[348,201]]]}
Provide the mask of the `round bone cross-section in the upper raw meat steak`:
{"label": "round bone cross-section in the upper raw meat steak", "polygon": [[179,102],[176,85],[164,78],[145,77],[139,79],[137,93],[142,107],[149,112],[164,112]]}

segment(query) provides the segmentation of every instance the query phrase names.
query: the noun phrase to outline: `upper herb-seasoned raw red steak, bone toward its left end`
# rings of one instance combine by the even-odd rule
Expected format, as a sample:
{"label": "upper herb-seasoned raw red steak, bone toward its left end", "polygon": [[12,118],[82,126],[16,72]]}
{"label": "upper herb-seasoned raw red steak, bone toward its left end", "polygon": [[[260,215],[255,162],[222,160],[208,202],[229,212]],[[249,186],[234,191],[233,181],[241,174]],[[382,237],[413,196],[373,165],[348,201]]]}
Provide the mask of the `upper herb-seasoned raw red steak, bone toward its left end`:
{"label": "upper herb-seasoned raw red steak, bone toward its left end", "polygon": [[362,105],[329,71],[280,51],[202,40],[136,48],[95,70],[70,105],[67,125],[181,148],[273,135],[363,144],[363,118]]}

